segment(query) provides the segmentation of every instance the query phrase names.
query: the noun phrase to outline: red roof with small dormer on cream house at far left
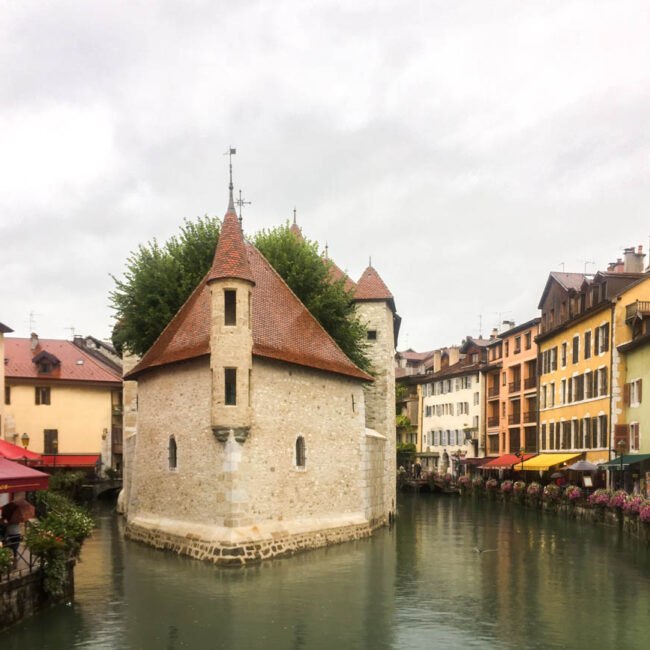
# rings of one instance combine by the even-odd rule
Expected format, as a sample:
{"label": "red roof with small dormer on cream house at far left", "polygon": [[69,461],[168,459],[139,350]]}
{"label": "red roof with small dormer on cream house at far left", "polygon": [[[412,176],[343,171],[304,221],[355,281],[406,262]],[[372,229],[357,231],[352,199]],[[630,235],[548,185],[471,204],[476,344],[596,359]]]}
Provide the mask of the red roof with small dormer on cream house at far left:
{"label": "red roof with small dormer on cream house at far left", "polygon": [[[49,374],[39,374],[32,359],[42,352],[55,356],[60,363]],[[87,381],[122,383],[120,373],[101,363],[72,341],[38,339],[31,349],[31,339],[5,337],[5,377],[8,379],[43,379],[45,381]],[[83,363],[78,363],[82,361]]]}

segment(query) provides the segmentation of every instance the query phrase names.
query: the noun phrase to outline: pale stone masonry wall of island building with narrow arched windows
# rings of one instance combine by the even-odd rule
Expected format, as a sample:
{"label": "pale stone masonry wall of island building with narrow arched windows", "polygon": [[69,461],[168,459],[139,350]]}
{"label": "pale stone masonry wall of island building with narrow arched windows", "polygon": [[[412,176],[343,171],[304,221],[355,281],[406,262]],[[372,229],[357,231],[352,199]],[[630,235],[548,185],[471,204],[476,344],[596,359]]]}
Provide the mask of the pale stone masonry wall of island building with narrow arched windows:
{"label": "pale stone masonry wall of island building with narrow arched windows", "polygon": [[[206,357],[140,378],[130,537],[190,554],[200,548],[202,557],[217,547],[245,549],[244,540],[262,545],[255,553],[268,547],[276,554],[368,534],[366,512],[377,525],[387,521],[392,502],[368,496],[369,485],[370,492],[384,485],[385,471],[369,478],[382,454],[375,450],[361,470],[366,434],[359,381],[255,358],[252,427],[240,444],[232,434],[225,443],[212,434],[210,375]],[[168,463],[172,434],[174,471]],[[304,468],[295,465],[298,436],[305,439]],[[328,533],[323,541],[324,531],[347,532]],[[280,551],[277,544],[266,546],[277,539],[293,541]]]}

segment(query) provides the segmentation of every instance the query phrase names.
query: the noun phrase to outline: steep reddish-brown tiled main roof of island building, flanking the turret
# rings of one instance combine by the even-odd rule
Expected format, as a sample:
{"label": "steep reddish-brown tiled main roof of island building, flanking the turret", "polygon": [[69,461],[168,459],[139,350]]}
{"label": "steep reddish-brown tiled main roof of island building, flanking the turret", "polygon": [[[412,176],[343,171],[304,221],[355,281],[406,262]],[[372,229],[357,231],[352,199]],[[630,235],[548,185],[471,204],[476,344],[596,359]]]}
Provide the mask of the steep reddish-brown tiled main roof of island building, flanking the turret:
{"label": "steep reddish-brown tiled main roof of island building, flanking the turret", "polygon": [[[221,241],[221,240],[220,240]],[[253,287],[253,354],[369,381],[309,313],[264,256],[244,242]],[[218,256],[219,250],[217,250]],[[206,276],[141,361],[126,375],[210,353]]]}

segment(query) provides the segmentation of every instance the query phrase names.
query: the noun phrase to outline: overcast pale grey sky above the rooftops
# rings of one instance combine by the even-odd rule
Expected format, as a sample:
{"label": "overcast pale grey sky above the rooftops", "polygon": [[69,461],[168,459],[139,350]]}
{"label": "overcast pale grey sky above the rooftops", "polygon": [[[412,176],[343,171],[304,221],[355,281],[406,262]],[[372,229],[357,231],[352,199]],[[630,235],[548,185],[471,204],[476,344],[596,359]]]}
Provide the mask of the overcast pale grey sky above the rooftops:
{"label": "overcast pale grey sky above the rooftops", "polygon": [[288,219],[399,348],[528,320],[650,235],[650,4],[0,0],[0,322],[108,337],[109,274],[185,217]]}

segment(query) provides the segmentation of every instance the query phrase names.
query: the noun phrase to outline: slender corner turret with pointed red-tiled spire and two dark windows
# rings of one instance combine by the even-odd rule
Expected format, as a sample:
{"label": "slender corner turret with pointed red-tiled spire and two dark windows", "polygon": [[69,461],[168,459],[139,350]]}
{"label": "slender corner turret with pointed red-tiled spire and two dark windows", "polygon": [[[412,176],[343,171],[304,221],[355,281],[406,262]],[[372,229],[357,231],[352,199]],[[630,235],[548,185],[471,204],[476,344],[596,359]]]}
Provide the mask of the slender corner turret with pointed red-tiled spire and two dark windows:
{"label": "slender corner turret with pointed red-tiled spire and two dark windows", "polygon": [[243,443],[251,427],[253,274],[230,201],[207,278],[210,289],[211,425],[221,442]]}

